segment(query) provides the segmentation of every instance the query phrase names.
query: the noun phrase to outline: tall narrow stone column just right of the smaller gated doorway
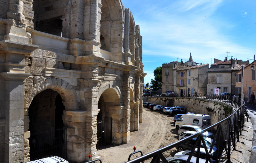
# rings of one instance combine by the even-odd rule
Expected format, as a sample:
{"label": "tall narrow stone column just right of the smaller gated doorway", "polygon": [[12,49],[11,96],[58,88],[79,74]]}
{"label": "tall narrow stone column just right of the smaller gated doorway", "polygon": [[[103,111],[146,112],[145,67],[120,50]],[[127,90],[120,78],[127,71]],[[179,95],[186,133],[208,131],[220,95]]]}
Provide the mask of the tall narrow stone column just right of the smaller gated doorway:
{"label": "tall narrow stone column just right of the smaller gated doorway", "polygon": [[129,143],[130,141],[130,72],[124,71],[123,76],[123,143]]}

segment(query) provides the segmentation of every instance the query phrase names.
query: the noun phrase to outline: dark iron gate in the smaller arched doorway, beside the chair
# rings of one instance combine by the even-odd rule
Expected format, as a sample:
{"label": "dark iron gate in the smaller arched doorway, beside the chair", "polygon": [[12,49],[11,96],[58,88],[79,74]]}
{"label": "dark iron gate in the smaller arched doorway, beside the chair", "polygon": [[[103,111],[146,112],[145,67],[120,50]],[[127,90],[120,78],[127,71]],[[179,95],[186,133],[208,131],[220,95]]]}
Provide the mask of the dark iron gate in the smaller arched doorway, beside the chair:
{"label": "dark iron gate in the smaller arched doorway, beside the chair", "polygon": [[97,122],[97,150],[100,150],[102,146],[111,144],[112,138],[112,118],[104,118]]}

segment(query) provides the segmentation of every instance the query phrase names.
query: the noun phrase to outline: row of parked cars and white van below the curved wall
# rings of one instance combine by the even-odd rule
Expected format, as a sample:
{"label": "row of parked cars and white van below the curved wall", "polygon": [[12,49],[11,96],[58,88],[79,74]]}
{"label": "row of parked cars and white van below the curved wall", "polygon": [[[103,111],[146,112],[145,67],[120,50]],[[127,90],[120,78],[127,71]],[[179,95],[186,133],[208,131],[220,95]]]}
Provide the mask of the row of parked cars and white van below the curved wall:
{"label": "row of parked cars and white van below the curved wall", "polygon": [[[153,103],[143,103],[144,107],[148,107],[155,111],[163,111],[164,113],[173,115],[174,126],[178,129],[179,137],[178,139],[184,139],[185,137],[191,136],[196,134],[197,132],[202,131],[204,128],[211,126],[211,119],[209,115],[205,114],[195,114],[195,113],[186,113],[186,109],[184,106],[162,106]],[[210,151],[210,147],[213,144],[213,149],[209,153],[211,155],[212,162],[215,162],[217,159],[216,154],[216,141],[213,142],[214,134],[211,132],[204,132],[202,133],[204,137],[204,143],[206,144],[208,153]],[[186,162],[188,159],[191,150],[196,144],[196,137],[188,140],[185,143],[179,144],[176,146],[176,149],[179,151],[174,155],[174,157],[167,158],[168,162],[176,163],[176,162]],[[201,141],[200,146],[200,159],[199,163],[204,162],[207,158],[207,152],[203,148],[203,142]],[[194,153],[192,154],[192,158],[190,160],[191,163],[196,162],[197,156],[197,148],[195,149]]]}

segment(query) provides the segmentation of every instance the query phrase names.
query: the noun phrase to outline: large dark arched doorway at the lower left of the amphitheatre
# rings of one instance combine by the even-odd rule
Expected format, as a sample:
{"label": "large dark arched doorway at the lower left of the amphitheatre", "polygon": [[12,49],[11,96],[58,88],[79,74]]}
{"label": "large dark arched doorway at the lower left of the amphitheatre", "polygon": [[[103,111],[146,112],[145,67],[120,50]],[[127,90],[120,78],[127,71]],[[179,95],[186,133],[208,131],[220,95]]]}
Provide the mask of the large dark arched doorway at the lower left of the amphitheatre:
{"label": "large dark arched doorway at the lower left of the amphitheatre", "polygon": [[57,155],[66,158],[65,106],[57,91],[46,89],[37,94],[28,108],[30,160]]}

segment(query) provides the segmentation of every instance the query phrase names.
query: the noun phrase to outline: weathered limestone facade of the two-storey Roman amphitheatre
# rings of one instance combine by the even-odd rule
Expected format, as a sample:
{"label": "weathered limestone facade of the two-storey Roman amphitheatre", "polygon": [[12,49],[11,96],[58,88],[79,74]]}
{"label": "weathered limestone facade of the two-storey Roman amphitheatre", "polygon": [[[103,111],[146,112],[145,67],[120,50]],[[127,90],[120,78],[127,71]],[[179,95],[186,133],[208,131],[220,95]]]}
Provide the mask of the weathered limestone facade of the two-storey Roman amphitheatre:
{"label": "weathered limestone facade of the two-storey Roman amphitheatre", "polygon": [[128,143],[144,76],[140,27],[121,0],[0,0],[0,163],[28,162],[43,147],[31,136],[58,127],[67,160],[94,159],[104,118]]}

